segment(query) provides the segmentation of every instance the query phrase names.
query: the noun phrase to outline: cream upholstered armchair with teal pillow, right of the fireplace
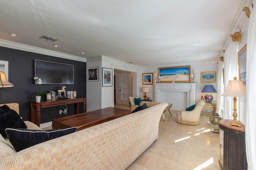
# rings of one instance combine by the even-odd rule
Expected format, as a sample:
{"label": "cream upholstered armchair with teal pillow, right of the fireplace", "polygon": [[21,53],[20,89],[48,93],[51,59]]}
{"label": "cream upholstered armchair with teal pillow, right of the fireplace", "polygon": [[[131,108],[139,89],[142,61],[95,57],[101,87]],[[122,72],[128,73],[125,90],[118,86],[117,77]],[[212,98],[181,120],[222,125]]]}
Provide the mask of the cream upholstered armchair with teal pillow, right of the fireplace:
{"label": "cream upholstered armchair with teal pillow, right of the fireplace", "polygon": [[203,100],[199,100],[193,110],[186,111],[186,109],[182,109],[177,113],[177,122],[181,124],[198,125],[204,104]]}

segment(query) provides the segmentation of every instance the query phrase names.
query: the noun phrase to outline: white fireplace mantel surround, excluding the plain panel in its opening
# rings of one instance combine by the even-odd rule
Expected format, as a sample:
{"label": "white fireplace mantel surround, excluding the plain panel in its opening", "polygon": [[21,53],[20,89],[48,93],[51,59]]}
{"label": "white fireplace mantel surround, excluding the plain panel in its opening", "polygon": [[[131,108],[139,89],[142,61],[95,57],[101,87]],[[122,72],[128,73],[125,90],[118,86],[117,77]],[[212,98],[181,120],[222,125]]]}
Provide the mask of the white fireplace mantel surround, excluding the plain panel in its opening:
{"label": "white fireplace mantel surround, excluding the plain panel in its opening", "polygon": [[162,92],[187,92],[187,107],[196,103],[197,83],[154,83],[155,102],[162,101]]}

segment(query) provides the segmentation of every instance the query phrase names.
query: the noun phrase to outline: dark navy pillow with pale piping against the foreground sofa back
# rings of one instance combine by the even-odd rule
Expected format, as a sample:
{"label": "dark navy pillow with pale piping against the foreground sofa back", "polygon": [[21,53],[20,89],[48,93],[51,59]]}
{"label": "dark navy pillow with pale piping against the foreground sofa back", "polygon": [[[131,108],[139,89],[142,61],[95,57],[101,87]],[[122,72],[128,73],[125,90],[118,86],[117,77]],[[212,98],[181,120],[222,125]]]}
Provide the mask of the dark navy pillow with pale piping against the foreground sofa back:
{"label": "dark navy pillow with pale piping against the foreground sofa back", "polygon": [[36,144],[40,144],[47,140],[58,138],[73,132],[76,132],[77,127],[67,129],[53,130],[29,130],[29,129],[11,129],[7,128],[6,134],[12,146],[19,152]]}

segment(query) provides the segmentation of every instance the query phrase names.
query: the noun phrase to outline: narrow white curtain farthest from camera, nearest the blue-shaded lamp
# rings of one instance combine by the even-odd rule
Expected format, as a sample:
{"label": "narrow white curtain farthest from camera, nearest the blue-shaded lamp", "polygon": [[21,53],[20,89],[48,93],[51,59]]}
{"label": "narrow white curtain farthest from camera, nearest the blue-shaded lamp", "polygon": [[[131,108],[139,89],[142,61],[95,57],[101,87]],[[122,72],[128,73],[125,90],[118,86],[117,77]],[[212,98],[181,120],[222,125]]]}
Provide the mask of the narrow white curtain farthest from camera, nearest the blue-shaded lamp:
{"label": "narrow white curtain farthest from camera, nearest the blue-shaded lamp", "polygon": [[219,61],[218,62],[218,75],[217,75],[217,113],[220,115],[222,118],[222,111],[223,111],[223,94],[224,92],[224,85],[223,85],[223,62]]}

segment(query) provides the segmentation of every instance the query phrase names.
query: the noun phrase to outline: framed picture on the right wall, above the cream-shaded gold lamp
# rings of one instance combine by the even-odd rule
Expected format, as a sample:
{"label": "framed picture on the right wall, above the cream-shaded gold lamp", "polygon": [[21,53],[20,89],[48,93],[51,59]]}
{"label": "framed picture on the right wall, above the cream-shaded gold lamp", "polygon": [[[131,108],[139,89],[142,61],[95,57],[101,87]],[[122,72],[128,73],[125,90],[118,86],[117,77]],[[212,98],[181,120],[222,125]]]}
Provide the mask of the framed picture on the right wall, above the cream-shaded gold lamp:
{"label": "framed picture on the right wall, above the cream-shaded gold lamp", "polygon": [[246,45],[238,52],[239,80],[246,86]]}

